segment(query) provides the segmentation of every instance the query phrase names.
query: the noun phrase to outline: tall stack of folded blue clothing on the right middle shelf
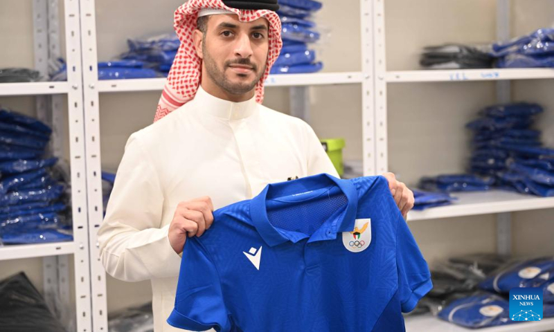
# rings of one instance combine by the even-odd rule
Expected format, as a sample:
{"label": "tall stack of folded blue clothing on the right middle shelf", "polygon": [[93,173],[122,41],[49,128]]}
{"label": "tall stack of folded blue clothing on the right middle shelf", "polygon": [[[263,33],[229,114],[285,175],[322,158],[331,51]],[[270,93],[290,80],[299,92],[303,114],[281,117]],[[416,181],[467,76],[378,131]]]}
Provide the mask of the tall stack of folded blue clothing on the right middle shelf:
{"label": "tall stack of folded blue clothing on the right middle shelf", "polygon": [[542,147],[541,132],[531,129],[538,104],[494,105],[467,124],[474,131],[470,169],[496,178],[502,189],[554,196],[554,149]]}

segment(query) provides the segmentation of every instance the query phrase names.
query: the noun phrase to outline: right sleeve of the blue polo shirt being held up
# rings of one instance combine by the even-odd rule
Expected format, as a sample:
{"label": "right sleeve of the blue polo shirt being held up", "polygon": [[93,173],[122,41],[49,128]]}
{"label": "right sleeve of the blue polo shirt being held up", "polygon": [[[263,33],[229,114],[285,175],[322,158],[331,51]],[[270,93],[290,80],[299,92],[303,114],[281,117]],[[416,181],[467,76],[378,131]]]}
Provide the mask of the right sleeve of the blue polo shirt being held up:
{"label": "right sleeve of the blue polo shirt being held up", "polygon": [[425,296],[433,284],[427,261],[423,258],[404,218],[397,221],[396,266],[398,273],[398,294],[403,313],[409,313],[415,304]]}

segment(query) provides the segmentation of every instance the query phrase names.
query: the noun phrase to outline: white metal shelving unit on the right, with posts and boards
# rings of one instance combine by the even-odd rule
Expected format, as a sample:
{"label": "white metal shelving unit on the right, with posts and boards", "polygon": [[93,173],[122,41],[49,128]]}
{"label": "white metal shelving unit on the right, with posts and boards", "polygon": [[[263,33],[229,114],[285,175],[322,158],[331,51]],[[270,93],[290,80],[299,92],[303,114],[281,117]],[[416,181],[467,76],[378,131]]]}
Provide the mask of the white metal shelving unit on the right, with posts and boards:
{"label": "white metal shelving unit on the right, with posts and boards", "polygon": [[[387,71],[385,48],[385,0],[373,0],[373,41],[375,73],[375,124],[377,153],[375,169],[381,174],[388,169],[388,133],[387,133],[387,85],[394,83],[426,82],[468,82],[497,81],[498,102],[510,101],[509,80],[538,80],[554,78],[550,68],[514,68],[514,69],[467,69],[467,70],[418,70]],[[510,39],[510,0],[497,0],[497,37]],[[453,194],[458,201],[453,205],[432,208],[425,211],[409,212],[409,221],[472,216],[476,214],[497,214],[497,250],[508,254],[511,250],[511,212],[554,208],[553,198],[517,194],[492,190],[490,192],[467,192]],[[553,331],[554,318],[542,322],[525,322],[480,329],[486,332],[533,332]],[[444,322],[432,315],[406,317],[406,331],[418,332],[463,332],[469,331],[455,324]]]}

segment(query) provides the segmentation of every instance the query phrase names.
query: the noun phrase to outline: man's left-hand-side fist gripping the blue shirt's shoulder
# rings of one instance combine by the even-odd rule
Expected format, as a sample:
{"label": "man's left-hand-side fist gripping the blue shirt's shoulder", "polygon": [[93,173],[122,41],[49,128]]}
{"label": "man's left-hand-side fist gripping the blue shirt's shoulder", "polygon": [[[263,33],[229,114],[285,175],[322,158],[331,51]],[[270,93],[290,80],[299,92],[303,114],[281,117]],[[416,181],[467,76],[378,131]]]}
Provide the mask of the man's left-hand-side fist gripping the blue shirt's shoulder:
{"label": "man's left-hand-side fist gripping the blue shirt's shoulder", "polygon": [[213,223],[213,204],[208,196],[199,197],[177,205],[173,220],[169,225],[171,248],[181,254],[186,237],[202,236]]}

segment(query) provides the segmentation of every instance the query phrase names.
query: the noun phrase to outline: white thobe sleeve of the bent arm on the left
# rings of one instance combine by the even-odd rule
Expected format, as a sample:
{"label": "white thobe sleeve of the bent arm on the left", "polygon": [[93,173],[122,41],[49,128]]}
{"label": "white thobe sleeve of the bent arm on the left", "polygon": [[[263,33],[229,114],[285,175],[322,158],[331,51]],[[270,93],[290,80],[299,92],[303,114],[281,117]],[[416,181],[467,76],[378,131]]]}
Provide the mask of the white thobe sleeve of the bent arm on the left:
{"label": "white thobe sleeve of the bent arm on the left", "polygon": [[98,230],[107,273],[126,282],[177,277],[181,257],[172,249],[169,225],[161,227],[163,190],[140,137],[125,145],[106,216]]}

